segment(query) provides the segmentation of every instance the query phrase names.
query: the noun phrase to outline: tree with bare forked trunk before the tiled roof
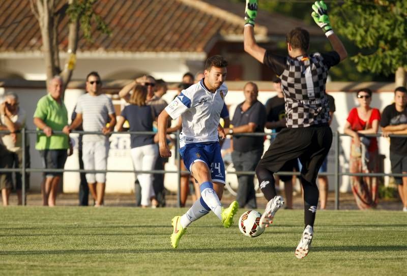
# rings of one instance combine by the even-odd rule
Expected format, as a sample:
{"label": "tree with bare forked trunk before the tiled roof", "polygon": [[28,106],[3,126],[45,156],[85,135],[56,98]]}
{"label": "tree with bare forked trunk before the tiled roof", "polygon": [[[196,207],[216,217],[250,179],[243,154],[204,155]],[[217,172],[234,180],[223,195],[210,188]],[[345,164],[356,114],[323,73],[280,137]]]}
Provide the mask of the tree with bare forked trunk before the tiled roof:
{"label": "tree with bare forked trunk before the tiled roof", "polygon": [[[110,34],[105,22],[93,10],[96,1],[68,0],[60,5],[60,2],[55,0],[30,0],[31,11],[37,18],[41,29],[47,80],[52,79],[55,75],[60,75],[64,82],[63,95],[75,68],[79,29],[82,30],[83,37],[88,41],[91,41],[93,22],[96,23],[97,30]],[[58,27],[65,16],[69,17],[68,57],[62,69],[59,56],[61,39]]]}

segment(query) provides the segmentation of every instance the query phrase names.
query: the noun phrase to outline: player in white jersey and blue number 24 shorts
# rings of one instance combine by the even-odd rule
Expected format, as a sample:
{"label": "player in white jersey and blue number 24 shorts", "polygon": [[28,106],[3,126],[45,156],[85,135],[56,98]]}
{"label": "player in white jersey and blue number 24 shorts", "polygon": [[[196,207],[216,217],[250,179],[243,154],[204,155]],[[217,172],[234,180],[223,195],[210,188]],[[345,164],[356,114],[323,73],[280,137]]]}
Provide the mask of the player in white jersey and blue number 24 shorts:
{"label": "player in white jersey and blue number 24 shorts", "polygon": [[226,228],[233,223],[238,211],[234,201],[226,209],[222,207],[225,185],[225,167],[220,154],[219,136],[225,132],[219,124],[227,87],[226,60],[220,55],[208,58],[205,64],[205,78],[182,91],[158,116],[158,137],[160,155],[171,156],[166,142],[166,128],[169,117],[182,118],[180,154],[185,167],[199,183],[201,198],[183,215],[172,219],[173,233],[171,246],[177,248],[187,227],[197,219],[213,211]]}

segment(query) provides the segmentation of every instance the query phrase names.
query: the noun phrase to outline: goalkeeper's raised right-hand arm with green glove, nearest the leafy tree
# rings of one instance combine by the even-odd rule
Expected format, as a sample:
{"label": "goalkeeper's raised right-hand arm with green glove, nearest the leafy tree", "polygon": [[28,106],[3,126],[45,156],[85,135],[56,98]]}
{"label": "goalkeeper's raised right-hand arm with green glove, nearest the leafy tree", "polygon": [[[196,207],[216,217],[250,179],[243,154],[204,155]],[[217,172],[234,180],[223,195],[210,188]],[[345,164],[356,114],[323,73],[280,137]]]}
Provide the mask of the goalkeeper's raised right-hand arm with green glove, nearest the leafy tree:
{"label": "goalkeeper's raised right-hand arm with green glove, nearest the leafy tree", "polygon": [[328,7],[324,1],[315,1],[312,5],[313,12],[311,13],[315,23],[324,30],[325,36],[328,38],[334,51],[339,54],[340,61],[347,57],[347,52],[342,42],[331,27],[331,22],[328,16]]}

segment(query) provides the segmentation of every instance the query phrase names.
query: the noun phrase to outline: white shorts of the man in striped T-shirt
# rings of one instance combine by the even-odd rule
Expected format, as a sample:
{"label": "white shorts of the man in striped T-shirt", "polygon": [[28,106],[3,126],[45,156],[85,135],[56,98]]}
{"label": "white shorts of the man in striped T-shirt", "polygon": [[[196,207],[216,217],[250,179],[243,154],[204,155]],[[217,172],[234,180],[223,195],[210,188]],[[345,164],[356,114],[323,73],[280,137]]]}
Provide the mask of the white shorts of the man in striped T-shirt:
{"label": "white shorts of the man in striped T-shirt", "polygon": [[[109,141],[83,141],[82,160],[85,170],[106,170]],[[86,173],[88,183],[105,183],[106,173]]]}

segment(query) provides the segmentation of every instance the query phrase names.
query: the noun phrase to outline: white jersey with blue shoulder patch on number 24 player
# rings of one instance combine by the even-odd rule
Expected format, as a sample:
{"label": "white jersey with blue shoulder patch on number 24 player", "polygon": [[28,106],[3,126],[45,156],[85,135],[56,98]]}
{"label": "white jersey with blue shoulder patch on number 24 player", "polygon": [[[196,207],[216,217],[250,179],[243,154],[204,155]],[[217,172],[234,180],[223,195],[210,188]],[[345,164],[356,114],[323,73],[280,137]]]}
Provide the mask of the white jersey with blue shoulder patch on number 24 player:
{"label": "white jersey with blue shoulder patch on number 24 player", "polygon": [[189,143],[217,142],[220,112],[222,111],[227,86],[222,84],[211,93],[203,79],[182,90],[165,111],[176,119],[182,117],[180,147]]}

